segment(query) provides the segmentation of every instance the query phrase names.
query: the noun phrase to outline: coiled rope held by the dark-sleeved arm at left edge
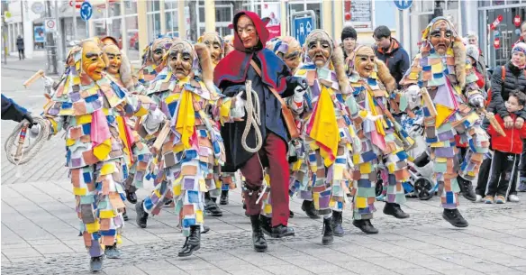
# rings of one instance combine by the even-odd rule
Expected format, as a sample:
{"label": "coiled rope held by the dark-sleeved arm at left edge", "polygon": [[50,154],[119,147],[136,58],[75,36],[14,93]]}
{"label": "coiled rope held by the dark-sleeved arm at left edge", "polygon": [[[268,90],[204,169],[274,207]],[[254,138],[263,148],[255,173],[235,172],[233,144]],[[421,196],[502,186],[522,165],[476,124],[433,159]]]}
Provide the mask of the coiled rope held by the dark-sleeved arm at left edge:
{"label": "coiled rope held by the dark-sleeved arm at left edge", "polygon": [[[32,139],[32,142],[30,142],[28,146],[24,146],[23,144],[26,138],[26,131],[31,131],[29,129],[29,122],[27,120],[23,120],[20,124],[16,125],[16,127],[14,127],[13,133],[11,133],[5,141],[5,156],[9,162],[16,166],[27,163],[34,159],[37,153],[41,151],[41,148],[46,140],[50,138],[50,126],[48,125],[47,119],[42,117],[33,117],[33,121],[35,124],[41,126],[41,131],[36,136],[36,138]],[[23,130],[24,127],[25,129]],[[16,150],[14,150],[14,147],[16,147]]]}

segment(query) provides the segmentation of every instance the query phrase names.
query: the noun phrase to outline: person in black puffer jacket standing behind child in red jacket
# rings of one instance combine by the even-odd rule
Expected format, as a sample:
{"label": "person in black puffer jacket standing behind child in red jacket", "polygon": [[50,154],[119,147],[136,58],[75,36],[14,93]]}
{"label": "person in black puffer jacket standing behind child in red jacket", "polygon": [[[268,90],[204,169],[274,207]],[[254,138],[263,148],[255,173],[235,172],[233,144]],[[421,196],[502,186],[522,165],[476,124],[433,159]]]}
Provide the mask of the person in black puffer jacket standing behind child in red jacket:
{"label": "person in black puffer jacket standing behind child in red jacket", "polygon": [[[518,113],[519,117],[513,123],[512,117],[506,110],[504,102],[508,100],[510,92],[517,89],[526,94],[526,43],[519,42],[515,44],[512,49],[512,60],[508,61],[504,66],[494,69],[491,78],[492,99],[488,107],[488,111],[503,117],[504,127],[510,129],[515,127],[522,128],[522,124],[526,120],[526,109],[522,109]],[[504,72],[503,72],[504,69]],[[524,142],[524,141],[523,141]],[[524,148],[524,146],[523,146]],[[526,180],[526,150],[522,151],[521,156],[521,181]],[[510,189],[510,196],[508,199],[512,202],[519,201],[517,197],[517,180],[512,181]]]}

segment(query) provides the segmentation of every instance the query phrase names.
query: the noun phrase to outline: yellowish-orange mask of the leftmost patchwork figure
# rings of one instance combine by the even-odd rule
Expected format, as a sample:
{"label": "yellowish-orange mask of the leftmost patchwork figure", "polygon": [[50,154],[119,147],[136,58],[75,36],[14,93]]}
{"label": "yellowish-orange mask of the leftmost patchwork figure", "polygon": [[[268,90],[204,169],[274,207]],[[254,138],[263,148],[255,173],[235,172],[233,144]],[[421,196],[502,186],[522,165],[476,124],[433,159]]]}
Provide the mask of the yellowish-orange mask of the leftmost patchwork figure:
{"label": "yellowish-orange mask of the leftmost patchwork figure", "polygon": [[85,41],[82,43],[82,71],[96,81],[103,78],[105,67],[103,50],[97,42]]}

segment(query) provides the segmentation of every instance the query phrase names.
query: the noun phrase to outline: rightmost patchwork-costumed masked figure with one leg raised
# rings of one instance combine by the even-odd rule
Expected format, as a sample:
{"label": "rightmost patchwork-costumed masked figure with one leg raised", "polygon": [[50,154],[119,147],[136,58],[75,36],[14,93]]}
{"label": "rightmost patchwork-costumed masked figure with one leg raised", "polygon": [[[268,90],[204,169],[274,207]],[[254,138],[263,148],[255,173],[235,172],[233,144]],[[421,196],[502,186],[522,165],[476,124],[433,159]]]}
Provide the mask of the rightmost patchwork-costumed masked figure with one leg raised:
{"label": "rightmost patchwork-costumed masked figure with one leg raised", "polygon": [[[434,161],[434,177],[440,184],[442,216],[457,227],[467,226],[457,209],[457,176],[473,180],[489,146],[476,114],[476,108],[484,107],[476,79],[473,69],[466,67],[466,50],[453,23],[437,17],[422,32],[420,53],[400,82],[405,87],[425,87],[429,93],[422,96],[426,142]],[[456,134],[460,142],[469,144],[462,163],[457,157]]]}

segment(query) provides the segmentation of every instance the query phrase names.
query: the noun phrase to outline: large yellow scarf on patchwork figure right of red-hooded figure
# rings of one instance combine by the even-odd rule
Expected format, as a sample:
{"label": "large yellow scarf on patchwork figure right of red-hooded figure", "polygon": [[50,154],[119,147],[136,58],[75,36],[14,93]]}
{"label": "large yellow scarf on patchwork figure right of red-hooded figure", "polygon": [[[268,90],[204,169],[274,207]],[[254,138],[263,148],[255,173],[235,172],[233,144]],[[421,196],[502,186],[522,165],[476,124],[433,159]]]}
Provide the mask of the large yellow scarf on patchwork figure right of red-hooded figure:
{"label": "large yellow scarf on patchwork figure right of red-hooded figure", "polygon": [[322,86],[322,93],[313,114],[313,128],[309,136],[320,145],[325,166],[330,166],[336,159],[338,143],[340,142],[340,131],[336,121],[336,113],[331,99],[331,92]]}

